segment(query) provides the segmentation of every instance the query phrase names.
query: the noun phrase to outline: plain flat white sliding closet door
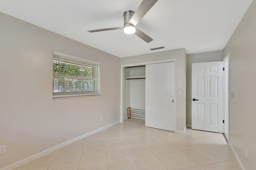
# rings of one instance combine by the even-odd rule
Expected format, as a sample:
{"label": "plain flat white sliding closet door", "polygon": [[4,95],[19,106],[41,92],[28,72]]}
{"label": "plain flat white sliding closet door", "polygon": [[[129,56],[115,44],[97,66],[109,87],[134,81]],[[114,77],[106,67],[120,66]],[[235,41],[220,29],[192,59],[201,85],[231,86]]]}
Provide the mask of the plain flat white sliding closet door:
{"label": "plain flat white sliding closet door", "polygon": [[146,65],[146,127],[175,130],[175,72],[174,62]]}

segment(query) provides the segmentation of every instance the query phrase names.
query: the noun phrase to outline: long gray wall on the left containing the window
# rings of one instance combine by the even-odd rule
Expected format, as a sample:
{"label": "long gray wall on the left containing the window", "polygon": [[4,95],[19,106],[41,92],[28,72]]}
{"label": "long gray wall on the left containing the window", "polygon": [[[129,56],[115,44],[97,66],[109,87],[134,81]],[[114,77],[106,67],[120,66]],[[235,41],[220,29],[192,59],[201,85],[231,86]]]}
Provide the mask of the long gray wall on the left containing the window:
{"label": "long gray wall on the left containing the window", "polygon": [[[3,13],[0,22],[0,168],[120,120],[120,58]],[[101,62],[101,96],[53,100],[52,51]]]}

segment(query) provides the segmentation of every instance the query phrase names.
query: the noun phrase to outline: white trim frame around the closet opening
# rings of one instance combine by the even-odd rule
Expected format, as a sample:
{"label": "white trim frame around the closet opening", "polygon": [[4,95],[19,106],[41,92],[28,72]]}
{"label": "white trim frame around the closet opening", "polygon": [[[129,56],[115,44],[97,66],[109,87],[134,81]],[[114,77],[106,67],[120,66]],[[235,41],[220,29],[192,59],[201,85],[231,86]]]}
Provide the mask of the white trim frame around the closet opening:
{"label": "white trim frame around the closet opening", "polygon": [[174,67],[175,67],[175,91],[176,93],[174,94],[174,100],[176,100],[175,105],[175,111],[174,111],[174,132],[177,132],[177,59],[166,59],[166,60],[159,60],[159,61],[148,61],[148,62],[142,62],[142,63],[131,63],[131,64],[123,64],[121,65],[121,70],[120,70],[120,122],[124,122],[124,113],[125,113],[125,108],[124,108],[124,99],[125,99],[125,90],[124,90],[124,67],[132,67],[132,66],[139,66],[139,65],[146,65],[146,64],[155,64],[155,63],[166,63],[166,62],[174,62]]}

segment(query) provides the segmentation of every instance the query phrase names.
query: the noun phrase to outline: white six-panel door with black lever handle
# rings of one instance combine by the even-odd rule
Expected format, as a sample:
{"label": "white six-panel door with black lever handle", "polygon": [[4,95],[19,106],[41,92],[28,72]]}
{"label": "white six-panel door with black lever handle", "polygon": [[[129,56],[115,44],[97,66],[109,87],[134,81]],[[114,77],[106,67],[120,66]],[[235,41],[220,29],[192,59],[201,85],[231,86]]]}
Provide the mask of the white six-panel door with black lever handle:
{"label": "white six-panel door with black lever handle", "polygon": [[192,129],[223,132],[223,61],[192,63],[191,102]]}

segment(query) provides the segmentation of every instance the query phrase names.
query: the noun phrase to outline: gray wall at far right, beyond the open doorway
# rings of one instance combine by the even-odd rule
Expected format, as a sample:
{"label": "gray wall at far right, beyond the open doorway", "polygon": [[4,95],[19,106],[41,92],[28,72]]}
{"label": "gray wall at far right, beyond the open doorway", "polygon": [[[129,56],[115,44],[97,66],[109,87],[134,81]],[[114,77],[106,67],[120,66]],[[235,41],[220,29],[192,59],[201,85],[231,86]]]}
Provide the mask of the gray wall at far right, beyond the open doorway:
{"label": "gray wall at far right, beyond the open doorway", "polygon": [[[224,48],[230,52],[230,144],[246,170],[256,166],[256,1]],[[248,157],[244,150],[247,148]]]}

